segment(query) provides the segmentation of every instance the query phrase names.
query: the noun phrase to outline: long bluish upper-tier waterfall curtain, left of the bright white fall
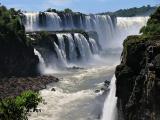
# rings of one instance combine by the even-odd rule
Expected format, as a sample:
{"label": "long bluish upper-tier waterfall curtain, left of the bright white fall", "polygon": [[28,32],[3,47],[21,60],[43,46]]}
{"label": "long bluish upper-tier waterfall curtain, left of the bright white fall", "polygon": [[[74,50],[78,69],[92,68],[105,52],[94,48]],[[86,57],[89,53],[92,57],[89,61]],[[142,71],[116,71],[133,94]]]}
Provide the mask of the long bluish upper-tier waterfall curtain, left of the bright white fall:
{"label": "long bluish upper-tier waterfall curtain, left of the bright white fall", "polygon": [[43,14],[24,13],[24,16],[23,23],[26,31],[60,31],[73,29],[96,31],[102,47],[106,47],[107,41],[112,40],[115,29],[114,21],[108,15],[59,15],[54,12],[44,12]]}

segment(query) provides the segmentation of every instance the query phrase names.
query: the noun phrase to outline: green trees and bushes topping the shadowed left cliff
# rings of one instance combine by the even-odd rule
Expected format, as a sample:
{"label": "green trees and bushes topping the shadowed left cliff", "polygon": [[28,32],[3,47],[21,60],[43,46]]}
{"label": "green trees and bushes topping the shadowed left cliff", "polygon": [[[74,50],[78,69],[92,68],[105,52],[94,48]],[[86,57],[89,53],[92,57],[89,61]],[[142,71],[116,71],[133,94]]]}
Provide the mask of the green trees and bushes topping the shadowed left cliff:
{"label": "green trees and bushes topping the shadowed left cliff", "polygon": [[7,9],[0,6],[0,38],[1,40],[11,40],[18,36],[26,42],[25,28],[21,24],[20,11],[14,8]]}

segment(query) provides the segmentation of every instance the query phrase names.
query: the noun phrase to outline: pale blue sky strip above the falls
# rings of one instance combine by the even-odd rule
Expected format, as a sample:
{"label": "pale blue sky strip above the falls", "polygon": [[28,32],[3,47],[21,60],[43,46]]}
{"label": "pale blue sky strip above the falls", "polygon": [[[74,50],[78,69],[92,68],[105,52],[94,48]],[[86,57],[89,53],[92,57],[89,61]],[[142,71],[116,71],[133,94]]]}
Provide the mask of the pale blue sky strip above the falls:
{"label": "pale blue sky strip above the falls", "polygon": [[115,11],[123,8],[160,4],[160,0],[1,0],[0,2],[9,8],[14,7],[27,11],[71,8],[73,11],[84,13]]}

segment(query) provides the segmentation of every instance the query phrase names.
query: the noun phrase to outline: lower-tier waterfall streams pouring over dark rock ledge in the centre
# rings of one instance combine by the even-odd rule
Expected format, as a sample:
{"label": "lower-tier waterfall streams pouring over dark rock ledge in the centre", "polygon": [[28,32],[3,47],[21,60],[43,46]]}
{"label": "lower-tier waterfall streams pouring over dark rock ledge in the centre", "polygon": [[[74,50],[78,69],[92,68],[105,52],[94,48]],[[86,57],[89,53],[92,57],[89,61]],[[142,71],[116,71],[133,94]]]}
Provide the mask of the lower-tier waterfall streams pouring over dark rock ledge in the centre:
{"label": "lower-tier waterfall streams pouring over dark rock ledge in the centre", "polygon": [[[52,54],[54,54],[54,63],[57,67],[69,67],[70,64],[77,62],[85,63],[90,60],[90,58],[93,58],[94,55],[99,53],[96,41],[93,38],[89,38],[87,40],[83,34],[57,33],[56,36],[58,41],[53,41],[55,52]],[[48,57],[48,59],[53,59],[53,57]],[[52,66],[51,64],[53,63],[51,62],[46,64],[50,64],[49,66]]]}

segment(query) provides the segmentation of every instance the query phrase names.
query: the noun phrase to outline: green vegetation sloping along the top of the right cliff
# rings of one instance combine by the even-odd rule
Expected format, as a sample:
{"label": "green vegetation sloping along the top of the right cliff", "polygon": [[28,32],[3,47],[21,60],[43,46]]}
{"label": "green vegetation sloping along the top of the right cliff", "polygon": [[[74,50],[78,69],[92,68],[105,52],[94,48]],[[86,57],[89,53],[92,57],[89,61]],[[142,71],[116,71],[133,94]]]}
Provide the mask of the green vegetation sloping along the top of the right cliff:
{"label": "green vegetation sloping along the top of the right cliff", "polygon": [[160,7],[157,8],[156,12],[152,14],[147,22],[147,25],[142,27],[140,30],[142,35],[138,36],[128,36],[124,42],[124,50],[132,47],[137,46],[139,43],[144,43],[147,41],[157,41],[159,40],[160,36]]}

